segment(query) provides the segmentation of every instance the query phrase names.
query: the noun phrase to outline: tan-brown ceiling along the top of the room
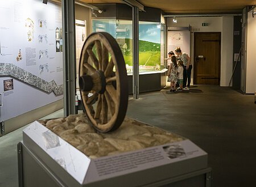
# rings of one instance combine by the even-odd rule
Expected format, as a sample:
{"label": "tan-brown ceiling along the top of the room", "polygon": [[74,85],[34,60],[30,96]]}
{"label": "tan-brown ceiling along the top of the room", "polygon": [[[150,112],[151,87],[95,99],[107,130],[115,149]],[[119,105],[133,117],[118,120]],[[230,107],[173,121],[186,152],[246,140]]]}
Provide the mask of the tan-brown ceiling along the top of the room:
{"label": "tan-brown ceiling along the top of the room", "polygon": [[[121,0],[80,0],[97,6],[96,3],[123,3]],[[138,0],[145,7],[160,8],[164,14],[218,14],[238,13],[256,0]]]}

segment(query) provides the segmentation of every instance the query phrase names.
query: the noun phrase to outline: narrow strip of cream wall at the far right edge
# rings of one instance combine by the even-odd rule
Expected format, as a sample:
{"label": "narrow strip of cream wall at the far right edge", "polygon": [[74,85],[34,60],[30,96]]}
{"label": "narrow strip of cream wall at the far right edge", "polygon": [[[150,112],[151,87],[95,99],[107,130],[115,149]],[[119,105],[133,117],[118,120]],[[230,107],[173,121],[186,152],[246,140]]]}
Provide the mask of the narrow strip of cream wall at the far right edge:
{"label": "narrow strip of cream wall at the far right edge", "polygon": [[247,56],[246,56],[246,94],[256,91],[256,18],[248,13],[247,20]]}

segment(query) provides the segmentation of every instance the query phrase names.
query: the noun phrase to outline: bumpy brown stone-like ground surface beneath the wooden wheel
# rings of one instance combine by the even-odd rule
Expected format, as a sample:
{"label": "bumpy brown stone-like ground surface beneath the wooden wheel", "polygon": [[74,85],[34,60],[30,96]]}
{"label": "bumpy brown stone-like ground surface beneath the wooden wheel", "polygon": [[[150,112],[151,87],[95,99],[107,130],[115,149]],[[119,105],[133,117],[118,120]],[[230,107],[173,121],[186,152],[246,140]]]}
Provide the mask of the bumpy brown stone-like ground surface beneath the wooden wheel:
{"label": "bumpy brown stone-like ground surface beneath the wooden wheel", "polygon": [[[127,117],[120,128],[110,133],[97,132],[84,113],[39,122],[92,159],[184,140],[179,135]],[[179,147],[164,149],[170,158],[183,152]]]}

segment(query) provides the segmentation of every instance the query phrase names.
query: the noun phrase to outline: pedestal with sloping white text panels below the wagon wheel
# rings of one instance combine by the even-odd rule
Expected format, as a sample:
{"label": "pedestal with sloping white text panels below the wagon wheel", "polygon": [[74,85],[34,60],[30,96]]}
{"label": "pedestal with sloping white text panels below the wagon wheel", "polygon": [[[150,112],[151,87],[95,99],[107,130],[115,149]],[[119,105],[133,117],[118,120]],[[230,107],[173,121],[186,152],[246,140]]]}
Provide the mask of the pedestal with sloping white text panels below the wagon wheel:
{"label": "pedestal with sloping white text panels below the wagon wheel", "polygon": [[186,139],[90,159],[35,121],[18,145],[19,186],[210,186],[207,157]]}

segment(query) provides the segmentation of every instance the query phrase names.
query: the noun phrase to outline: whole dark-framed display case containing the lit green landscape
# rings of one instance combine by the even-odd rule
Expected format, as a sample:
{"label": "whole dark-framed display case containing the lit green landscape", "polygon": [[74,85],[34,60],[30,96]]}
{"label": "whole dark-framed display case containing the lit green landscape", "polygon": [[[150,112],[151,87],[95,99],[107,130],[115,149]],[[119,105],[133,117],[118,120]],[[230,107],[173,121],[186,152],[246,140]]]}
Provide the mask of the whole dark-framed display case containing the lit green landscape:
{"label": "whole dark-framed display case containing the lit green landscape", "polygon": [[[99,3],[97,7],[104,11],[92,14],[92,31],[108,32],[117,40],[129,76],[129,94],[133,94],[132,8],[120,3]],[[159,91],[166,86],[166,28],[160,9],[144,10],[139,11],[139,92]]]}

